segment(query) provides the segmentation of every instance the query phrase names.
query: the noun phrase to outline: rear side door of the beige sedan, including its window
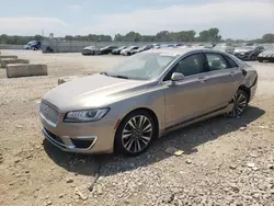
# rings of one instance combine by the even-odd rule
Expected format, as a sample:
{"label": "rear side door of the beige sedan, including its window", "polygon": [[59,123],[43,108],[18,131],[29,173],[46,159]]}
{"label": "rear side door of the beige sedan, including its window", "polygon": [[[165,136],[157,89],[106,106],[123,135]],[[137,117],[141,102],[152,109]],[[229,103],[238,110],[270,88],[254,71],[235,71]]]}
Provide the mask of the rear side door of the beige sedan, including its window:
{"label": "rear side door of the beige sedan, including its window", "polygon": [[238,90],[242,71],[228,56],[219,53],[204,53],[207,67],[206,84],[209,110],[229,104]]}

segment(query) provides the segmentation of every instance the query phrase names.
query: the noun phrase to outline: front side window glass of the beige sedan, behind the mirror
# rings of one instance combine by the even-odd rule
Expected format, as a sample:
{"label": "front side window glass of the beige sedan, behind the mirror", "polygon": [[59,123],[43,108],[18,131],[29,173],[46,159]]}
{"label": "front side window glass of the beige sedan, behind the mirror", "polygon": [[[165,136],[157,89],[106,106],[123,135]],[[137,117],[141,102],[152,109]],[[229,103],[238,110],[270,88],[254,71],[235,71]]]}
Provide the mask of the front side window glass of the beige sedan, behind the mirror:
{"label": "front side window glass of the beige sedan, behind the mirror", "polygon": [[201,55],[191,55],[180,60],[165,76],[163,81],[170,80],[173,72],[180,72],[185,77],[204,72],[203,59]]}

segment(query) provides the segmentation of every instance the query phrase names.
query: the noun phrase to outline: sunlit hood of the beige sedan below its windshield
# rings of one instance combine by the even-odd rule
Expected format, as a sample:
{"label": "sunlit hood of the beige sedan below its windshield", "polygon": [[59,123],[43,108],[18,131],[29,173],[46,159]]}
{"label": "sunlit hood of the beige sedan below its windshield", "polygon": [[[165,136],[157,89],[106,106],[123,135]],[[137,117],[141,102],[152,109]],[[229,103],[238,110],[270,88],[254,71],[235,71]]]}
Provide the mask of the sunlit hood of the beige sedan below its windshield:
{"label": "sunlit hood of the beige sedan below its windshield", "polygon": [[57,106],[61,112],[94,108],[133,95],[147,89],[148,81],[127,80],[93,75],[62,83],[49,92],[43,100]]}

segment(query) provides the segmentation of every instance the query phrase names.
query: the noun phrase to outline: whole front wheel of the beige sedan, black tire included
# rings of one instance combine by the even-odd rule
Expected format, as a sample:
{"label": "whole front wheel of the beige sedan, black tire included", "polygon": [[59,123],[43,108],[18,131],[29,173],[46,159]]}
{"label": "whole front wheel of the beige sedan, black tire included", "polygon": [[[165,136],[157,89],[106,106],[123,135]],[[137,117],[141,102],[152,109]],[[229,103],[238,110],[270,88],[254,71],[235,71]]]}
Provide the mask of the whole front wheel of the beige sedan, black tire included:
{"label": "whole front wheel of the beige sedan, black tire included", "polygon": [[129,113],[119,124],[114,149],[126,156],[138,156],[149,148],[156,137],[156,121],[146,111]]}

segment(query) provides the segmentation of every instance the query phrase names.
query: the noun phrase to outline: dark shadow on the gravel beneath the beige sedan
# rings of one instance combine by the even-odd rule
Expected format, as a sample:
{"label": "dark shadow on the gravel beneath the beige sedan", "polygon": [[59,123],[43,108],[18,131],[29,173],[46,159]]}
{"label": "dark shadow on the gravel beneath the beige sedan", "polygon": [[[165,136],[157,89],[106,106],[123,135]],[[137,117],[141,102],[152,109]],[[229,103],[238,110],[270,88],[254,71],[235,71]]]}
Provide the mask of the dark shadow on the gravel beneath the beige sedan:
{"label": "dark shadow on the gravel beneath the beige sedan", "polygon": [[198,152],[197,146],[217,139],[218,137],[238,130],[262,115],[264,111],[249,106],[240,118],[225,118],[217,116],[193,124],[189,127],[178,129],[160,139],[155,140],[150,148],[138,157],[124,157],[118,154],[76,154],[59,150],[46,139],[44,148],[53,161],[69,172],[82,175],[109,176],[121,172],[147,167],[155,162],[164,160],[173,154],[165,152],[169,147],[184,151],[184,156]]}

